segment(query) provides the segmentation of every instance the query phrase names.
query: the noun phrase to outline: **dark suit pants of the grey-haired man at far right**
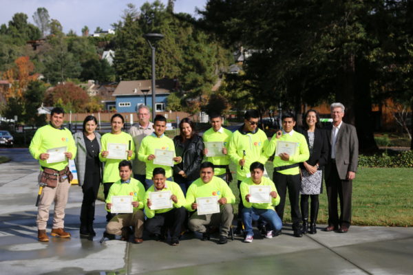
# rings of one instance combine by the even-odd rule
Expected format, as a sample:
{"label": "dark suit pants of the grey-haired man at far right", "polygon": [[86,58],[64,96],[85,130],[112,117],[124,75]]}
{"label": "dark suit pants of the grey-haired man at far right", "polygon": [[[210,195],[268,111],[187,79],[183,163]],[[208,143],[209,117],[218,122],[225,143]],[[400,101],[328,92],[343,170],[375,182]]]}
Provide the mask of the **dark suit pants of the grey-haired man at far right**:
{"label": "dark suit pants of the grey-haired man at far right", "polygon": [[[346,225],[351,223],[352,180],[340,179],[337,166],[332,165],[326,178],[328,197],[328,225]],[[340,198],[340,217],[337,205],[337,195]]]}

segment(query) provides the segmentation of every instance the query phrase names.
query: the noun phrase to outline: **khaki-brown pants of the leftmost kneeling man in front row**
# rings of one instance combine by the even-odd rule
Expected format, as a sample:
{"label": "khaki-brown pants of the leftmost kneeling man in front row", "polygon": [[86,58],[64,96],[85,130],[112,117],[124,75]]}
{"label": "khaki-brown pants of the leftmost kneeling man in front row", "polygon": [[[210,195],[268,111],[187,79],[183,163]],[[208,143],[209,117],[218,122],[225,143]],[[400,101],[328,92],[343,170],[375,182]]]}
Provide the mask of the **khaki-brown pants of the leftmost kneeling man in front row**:
{"label": "khaki-brown pants of the leftmost kneeling man in front row", "polygon": [[135,238],[142,238],[143,222],[144,215],[140,209],[136,210],[133,214],[118,214],[107,223],[106,232],[120,236],[122,234],[122,228],[125,226],[134,226]]}

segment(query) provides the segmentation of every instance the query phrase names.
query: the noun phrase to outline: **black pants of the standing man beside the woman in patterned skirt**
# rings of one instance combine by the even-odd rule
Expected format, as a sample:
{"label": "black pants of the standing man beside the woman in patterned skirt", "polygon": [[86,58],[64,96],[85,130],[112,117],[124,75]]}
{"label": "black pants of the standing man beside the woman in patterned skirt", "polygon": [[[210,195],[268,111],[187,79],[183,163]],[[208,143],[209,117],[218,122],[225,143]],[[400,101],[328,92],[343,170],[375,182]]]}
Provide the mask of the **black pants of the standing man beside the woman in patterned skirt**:
{"label": "black pants of the standing man beside the woman in patterned skirt", "polygon": [[301,186],[301,180],[299,174],[284,175],[275,171],[273,173],[273,181],[280,199],[278,206],[275,206],[279,218],[282,220],[284,217],[284,206],[286,204],[286,192],[288,188],[288,199],[290,199],[293,228],[300,226],[301,213],[299,212],[299,188]]}

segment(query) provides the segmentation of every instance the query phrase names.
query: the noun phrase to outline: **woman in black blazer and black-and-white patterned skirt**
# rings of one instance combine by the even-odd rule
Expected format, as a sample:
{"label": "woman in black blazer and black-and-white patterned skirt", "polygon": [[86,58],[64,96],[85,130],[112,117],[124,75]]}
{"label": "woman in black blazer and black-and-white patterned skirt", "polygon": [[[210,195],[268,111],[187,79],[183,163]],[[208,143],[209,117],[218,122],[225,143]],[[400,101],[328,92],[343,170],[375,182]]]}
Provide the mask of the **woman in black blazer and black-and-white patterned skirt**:
{"label": "woman in black blazer and black-and-white patterned skirt", "polygon": [[[301,168],[301,217],[303,219],[303,233],[316,234],[315,223],[319,210],[319,194],[322,192],[323,167],[328,159],[328,139],[326,131],[321,129],[317,111],[311,109],[304,115],[304,131],[310,158],[300,164]],[[310,228],[308,230],[308,197],[311,197]]]}

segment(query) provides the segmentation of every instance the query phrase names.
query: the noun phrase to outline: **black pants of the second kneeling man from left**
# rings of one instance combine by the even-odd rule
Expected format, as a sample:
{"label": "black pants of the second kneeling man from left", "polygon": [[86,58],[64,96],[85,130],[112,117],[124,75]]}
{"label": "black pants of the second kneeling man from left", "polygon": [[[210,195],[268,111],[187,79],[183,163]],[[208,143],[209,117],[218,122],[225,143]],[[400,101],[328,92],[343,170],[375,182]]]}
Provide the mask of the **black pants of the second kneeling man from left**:
{"label": "black pants of the second kneeling man from left", "polygon": [[184,207],[173,208],[172,210],[155,214],[155,217],[145,221],[145,228],[151,234],[161,234],[165,225],[171,229],[171,238],[177,239],[180,236],[182,225],[187,217],[187,210]]}

